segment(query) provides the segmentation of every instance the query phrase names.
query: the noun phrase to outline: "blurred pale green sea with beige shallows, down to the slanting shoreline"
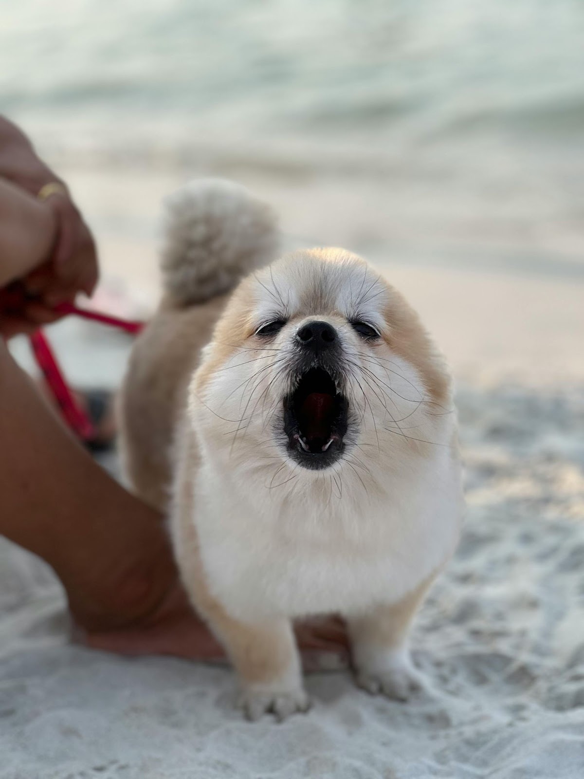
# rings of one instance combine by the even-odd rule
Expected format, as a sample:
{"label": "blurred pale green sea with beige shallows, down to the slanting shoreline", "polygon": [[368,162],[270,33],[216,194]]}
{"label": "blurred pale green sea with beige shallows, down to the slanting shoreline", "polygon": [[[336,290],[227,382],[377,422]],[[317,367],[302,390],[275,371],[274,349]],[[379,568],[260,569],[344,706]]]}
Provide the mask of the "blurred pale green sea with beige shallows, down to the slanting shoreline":
{"label": "blurred pale green sea with beige shallows, down to the slanting shoreline", "polygon": [[65,164],[367,180],[584,256],[581,0],[0,0],[0,110]]}

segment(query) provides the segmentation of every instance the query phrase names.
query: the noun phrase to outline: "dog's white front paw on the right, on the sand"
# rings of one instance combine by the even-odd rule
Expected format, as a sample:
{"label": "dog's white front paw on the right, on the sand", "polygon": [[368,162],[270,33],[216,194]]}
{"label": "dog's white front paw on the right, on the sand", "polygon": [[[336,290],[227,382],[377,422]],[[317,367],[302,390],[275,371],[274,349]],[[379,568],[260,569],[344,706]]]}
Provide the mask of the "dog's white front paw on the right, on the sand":
{"label": "dog's white front paw on the right, on the sand", "polygon": [[426,689],[424,677],[413,667],[409,654],[388,653],[357,669],[357,685],[371,695],[408,700],[411,693]]}

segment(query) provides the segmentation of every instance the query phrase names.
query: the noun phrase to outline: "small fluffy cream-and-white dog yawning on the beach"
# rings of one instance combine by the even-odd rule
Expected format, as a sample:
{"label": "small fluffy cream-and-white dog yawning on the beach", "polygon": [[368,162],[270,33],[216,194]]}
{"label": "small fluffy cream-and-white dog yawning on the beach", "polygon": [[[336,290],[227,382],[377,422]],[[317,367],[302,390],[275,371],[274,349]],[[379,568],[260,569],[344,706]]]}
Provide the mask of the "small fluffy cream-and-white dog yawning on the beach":
{"label": "small fluffy cream-and-white dog yawning on the beach", "polygon": [[128,476],[170,506],[252,719],[306,710],[291,620],[326,612],[357,682],[405,699],[410,626],[462,516],[449,372],[416,313],[350,252],[277,243],[237,185],[171,199],[164,297],[121,402]]}

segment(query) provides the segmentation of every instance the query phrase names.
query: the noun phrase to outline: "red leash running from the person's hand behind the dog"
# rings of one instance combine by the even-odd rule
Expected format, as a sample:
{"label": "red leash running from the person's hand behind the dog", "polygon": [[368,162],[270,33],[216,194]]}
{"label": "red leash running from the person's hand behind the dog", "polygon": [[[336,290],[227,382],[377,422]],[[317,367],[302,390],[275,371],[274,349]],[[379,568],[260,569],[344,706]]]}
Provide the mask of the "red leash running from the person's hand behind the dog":
{"label": "red leash running from the person's hand behind the dog", "polygon": [[[139,333],[144,326],[142,322],[120,319],[117,316],[101,314],[86,308],[77,308],[76,305],[71,303],[58,305],[57,311],[63,314],[80,316],[83,319],[91,319],[93,322],[99,322],[111,327],[117,327],[119,330],[125,330],[126,333],[131,333],[132,335]],[[58,403],[58,407],[61,409],[65,422],[69,425],[69,428],[76,432],[80,439],[90,441],[95,435],[91,420],[83,408],[79,406],[76,397],[70,390],[47,337],[42,330],[37,330],[36,333],[29,337],[29,340],[37,365],[43,373],[47,386]]]}

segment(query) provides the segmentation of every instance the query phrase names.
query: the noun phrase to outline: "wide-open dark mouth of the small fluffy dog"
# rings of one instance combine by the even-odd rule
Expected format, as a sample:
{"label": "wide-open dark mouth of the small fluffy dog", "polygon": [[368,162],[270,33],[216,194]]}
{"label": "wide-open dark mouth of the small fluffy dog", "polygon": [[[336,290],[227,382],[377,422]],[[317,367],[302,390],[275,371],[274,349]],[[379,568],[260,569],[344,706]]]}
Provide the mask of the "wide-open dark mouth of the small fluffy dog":
{"label": "wide-open dark mouth of the small fluffy dog", "polygon": [[348,401],[329,372],[310,368],[296,390],[284,398],[288,449],[304,467],[325,468],[343,451]]}

